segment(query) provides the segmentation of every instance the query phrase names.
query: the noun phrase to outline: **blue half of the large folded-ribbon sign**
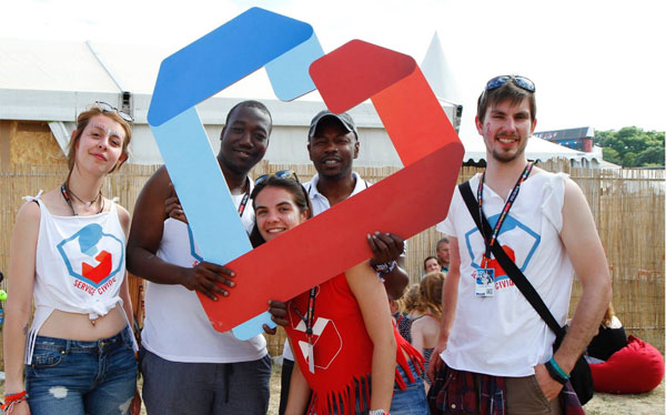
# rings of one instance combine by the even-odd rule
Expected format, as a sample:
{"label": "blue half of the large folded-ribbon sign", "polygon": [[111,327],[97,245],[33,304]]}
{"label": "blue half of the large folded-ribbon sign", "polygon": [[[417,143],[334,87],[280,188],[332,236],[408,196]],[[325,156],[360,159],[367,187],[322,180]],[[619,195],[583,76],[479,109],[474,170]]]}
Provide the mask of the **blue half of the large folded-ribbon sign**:
{"label": "blue half of the large folded-ribbon sign", "polygon": [[[315,89],[309,69],[323,54],[310,24],[252,8],[162,61],[148,122],[206,261],[252,246],[194,105],[264,65],[278,98],[293,100]],[[258,316],[234,335],[260,334],[262,323],[274,326]]]}

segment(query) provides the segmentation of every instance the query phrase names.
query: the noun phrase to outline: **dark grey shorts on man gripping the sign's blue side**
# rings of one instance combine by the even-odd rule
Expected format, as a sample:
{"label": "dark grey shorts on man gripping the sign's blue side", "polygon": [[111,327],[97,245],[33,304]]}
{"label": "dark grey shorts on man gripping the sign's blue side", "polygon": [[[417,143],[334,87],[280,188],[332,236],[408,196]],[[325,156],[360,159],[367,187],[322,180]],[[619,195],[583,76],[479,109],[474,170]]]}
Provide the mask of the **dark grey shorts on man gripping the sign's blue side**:
{"label": "dark grey shorts on man gripping the sign's blue side", "polygon": [[149,415],[265,415],[271,357],[239,363],[170,362],[142,348]]}

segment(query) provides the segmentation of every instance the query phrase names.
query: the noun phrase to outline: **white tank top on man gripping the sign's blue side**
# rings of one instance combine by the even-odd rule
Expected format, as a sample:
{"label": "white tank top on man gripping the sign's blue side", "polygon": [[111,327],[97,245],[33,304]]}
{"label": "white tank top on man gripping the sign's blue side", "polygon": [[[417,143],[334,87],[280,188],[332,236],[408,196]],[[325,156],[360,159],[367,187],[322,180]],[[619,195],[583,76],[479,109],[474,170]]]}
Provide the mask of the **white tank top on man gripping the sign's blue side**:
{"label": "white tank top on man gripping the sign's blue side", "polygon": [[[233,196],[236,206],[241,198]],[[254,212],[250,203],[241,220],[246,230],[252,229]],[[202,261],[190,227],[173,219],[164,221],[157,255],[165,262],[185,267]],[[240,341],[231,332],[215,331],[196,293],[180,284],[147,284],[141,341],[148,351],[171,362],[249,362],[262,358],[268,353],[262,335]]]}

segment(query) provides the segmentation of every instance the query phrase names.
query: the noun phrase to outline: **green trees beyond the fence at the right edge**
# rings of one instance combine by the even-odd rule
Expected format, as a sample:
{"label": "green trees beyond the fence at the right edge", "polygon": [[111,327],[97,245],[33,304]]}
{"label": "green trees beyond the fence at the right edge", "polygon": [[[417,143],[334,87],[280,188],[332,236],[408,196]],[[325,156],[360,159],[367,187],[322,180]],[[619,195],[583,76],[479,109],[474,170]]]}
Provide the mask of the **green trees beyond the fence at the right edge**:
{"label": "green trees beyond the fence at the right edge", "polygon": [[664,166],[664,131],[596,131],[594,143],[604,149],[604,160],[623,168]]}

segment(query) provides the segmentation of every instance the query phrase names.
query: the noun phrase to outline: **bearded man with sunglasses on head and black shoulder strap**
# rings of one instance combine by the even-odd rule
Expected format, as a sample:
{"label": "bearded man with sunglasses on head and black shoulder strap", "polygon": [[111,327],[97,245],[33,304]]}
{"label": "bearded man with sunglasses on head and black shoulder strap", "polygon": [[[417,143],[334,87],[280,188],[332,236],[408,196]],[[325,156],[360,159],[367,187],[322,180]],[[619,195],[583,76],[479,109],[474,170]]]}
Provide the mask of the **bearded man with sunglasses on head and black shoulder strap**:
{"label": "bearded man with sunglasses on head and black shoulder strap", "polygon": [[[610,300],[608,266],[581,189],[565,174],[527,162],[534,92],[528,79],[503,75],[488,81],[478,98],[476,129],[486,145],[486,169],[470,184],[492,234],[477,229],[458,189],[437,225],[450,235],[451,267],[434,353],[440,358],[428,368],[433,414],[582,413],[566,379]],[[567,318],[574,273],[578,276],[583,293],[555,353],[554,332],[498,265],[494,243],[559,325]],[[571,393],[561,394],[563,388]]]}

